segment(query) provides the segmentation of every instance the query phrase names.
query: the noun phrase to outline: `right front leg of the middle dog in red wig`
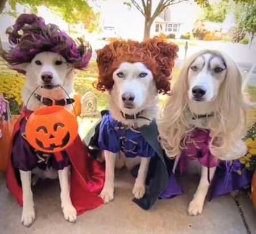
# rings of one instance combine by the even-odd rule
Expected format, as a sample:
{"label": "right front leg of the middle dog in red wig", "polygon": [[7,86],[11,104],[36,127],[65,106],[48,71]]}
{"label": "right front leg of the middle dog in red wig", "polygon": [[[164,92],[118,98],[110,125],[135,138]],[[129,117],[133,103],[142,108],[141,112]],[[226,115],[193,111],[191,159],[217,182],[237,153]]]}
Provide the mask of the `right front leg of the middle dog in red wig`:
{"label": "right front leg of the middle dog in red wig", "polygon": [[141,164],[139,165],[138,176],[135,180],[133,187],[134,197],[140,199],[145,193],[145,182],[147,178],[148,165],[150,163],[150,157],[144,158],[141,157]]}

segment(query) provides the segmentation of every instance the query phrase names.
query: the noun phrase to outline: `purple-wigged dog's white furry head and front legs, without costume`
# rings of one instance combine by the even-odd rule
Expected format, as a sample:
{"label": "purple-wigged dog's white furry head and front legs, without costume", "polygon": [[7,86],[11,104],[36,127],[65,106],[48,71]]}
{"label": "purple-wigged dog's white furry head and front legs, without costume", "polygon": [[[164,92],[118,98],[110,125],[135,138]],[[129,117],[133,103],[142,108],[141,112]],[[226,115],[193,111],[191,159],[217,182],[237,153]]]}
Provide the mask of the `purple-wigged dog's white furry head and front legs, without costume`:
{"label": "purple-wigged dog's white furry head and front legs, without costume", "polygon": [[[37,54],[31,63],[22,63],[16,65],[15,68],[26,71],[26,84],[22,92],[23,103],[27,103],[28,97],[30,97],[31,93],[38,86],[40,88],[36,90],[36,94],[53,100],[68,98],[67,94],[57,86],[62,86],[69,95],[73,91],[74,69],[60,54],[42,52]],[[35,96],[32,96],[28,102],[27,109],[34,111],[40,107],[43,107],[43,104]],[[72,106],[67,105],[67,108],[70,109]],[[31,190],[31,173],[36,173],[41,178],[54,179],[59,176],[60,199],[64,217],[69,222],[75,222],[76,209],[73,207],[69,195],[69,166],[59,171],[52,169],[42,171],[36,168],[32,172],[20,171],[23,188],[22,223],[24,226],[30,226],[35,220],[34,200]]]}

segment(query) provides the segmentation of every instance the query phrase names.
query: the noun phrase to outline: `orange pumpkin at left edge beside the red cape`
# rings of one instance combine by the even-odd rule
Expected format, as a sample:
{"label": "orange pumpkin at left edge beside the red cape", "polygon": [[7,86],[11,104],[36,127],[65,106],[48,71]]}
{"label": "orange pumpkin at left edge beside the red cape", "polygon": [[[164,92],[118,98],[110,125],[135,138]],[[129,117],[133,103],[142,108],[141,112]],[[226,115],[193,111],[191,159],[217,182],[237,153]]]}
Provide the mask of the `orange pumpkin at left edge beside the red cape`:
{"label": "orange pumpkin at left edge beside the red cape", "polygon": [[6,172],[7,164],[9,161],[9,150],[11,144],[11,137],[13,135],[13,128],[17,118],[11,121],[2,121],[0,129],[2,131],[2,138],[0,139],[0,171]]}

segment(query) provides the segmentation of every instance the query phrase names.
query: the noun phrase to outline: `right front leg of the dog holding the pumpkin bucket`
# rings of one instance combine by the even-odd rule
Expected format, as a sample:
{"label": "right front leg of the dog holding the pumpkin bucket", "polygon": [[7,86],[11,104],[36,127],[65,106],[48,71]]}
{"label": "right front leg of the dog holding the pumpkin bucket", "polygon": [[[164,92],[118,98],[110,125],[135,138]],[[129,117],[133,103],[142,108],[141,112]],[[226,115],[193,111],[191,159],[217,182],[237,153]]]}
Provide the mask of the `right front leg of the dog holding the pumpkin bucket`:
{"label": "right front leg of the dog holding the pumpkin bucket", "polygon": [[63,209],[63,214],[65,220],[69,222],[76,222],[76,209],[73,207],[70,198],[70,181],[69,173],[70,167],[64,167],[63,170],[58,171],[59,181],[60,181],[60,199],[61,207]]}

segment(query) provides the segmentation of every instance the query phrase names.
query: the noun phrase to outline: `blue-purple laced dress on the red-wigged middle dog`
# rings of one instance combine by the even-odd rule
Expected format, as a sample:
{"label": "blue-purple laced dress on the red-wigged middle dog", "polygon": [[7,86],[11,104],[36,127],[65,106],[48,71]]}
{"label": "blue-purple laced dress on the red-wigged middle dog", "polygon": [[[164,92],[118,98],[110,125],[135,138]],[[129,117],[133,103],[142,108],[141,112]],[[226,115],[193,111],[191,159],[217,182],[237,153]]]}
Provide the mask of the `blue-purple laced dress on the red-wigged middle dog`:
{"label": "blue-purple laced dress on the red-wigged middle dog", "polygon": [[127,128],[121,122],[114,120],[110,113],[102,117],[98,144],[101,150],[113,153],[122,151],[128,158],[136,156],[148,158],[157,155],[140,131]]}

